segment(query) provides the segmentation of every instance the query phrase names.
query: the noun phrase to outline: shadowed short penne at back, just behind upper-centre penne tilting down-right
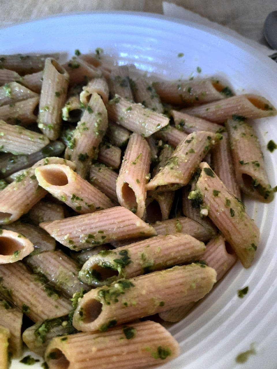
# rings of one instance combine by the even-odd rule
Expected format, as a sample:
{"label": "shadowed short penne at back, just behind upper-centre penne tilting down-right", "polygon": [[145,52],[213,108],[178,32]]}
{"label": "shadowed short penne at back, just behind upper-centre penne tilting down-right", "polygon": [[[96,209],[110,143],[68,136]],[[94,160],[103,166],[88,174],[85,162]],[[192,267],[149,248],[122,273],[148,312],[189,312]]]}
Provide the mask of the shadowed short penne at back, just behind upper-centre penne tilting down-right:
{"label": "shadowed short penne at back, just behind upper-centre penne tilting down-right", "polygon": [[136,103],[141,103],[157,113],[163,113],[163,105],[152,83],[143,77],[138,77],[132,81],[132,90]]}

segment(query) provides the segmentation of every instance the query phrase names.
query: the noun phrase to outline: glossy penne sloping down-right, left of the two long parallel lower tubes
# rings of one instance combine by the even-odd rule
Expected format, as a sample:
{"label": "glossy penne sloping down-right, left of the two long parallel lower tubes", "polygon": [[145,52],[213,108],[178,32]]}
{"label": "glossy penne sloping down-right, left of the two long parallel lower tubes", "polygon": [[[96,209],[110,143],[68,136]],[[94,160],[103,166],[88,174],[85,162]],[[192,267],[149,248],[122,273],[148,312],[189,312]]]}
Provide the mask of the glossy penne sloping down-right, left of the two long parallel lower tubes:
{"label": "glossy penne sloping down-right, left of the two long parallel lower tubes", "polygon": [[86,283],[78,279],[77,263],[61,250],[31,255],[24,261],[34,273],[42,273],[48,279],[49,285],[61,291],[65,297],[72,297],[81,289],[90,290]]}

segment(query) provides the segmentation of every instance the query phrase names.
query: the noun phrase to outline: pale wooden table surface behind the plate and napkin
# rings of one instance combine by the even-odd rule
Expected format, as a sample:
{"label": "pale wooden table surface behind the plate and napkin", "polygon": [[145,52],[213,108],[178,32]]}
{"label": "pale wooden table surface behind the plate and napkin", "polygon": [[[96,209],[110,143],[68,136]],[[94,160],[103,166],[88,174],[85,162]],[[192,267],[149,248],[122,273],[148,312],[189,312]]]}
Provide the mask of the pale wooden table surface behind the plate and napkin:
{"label": "pale wooden table surface behind the plate and napkin", "polygon": [[[264,43],[264,20],[267,14],[277,10],[276,0],[168,0],[168,2],[183,6],[262,43]],[[0,0],[0,27],[49,15],[93,10],[132,10],[163,14],[163,1]]]}

